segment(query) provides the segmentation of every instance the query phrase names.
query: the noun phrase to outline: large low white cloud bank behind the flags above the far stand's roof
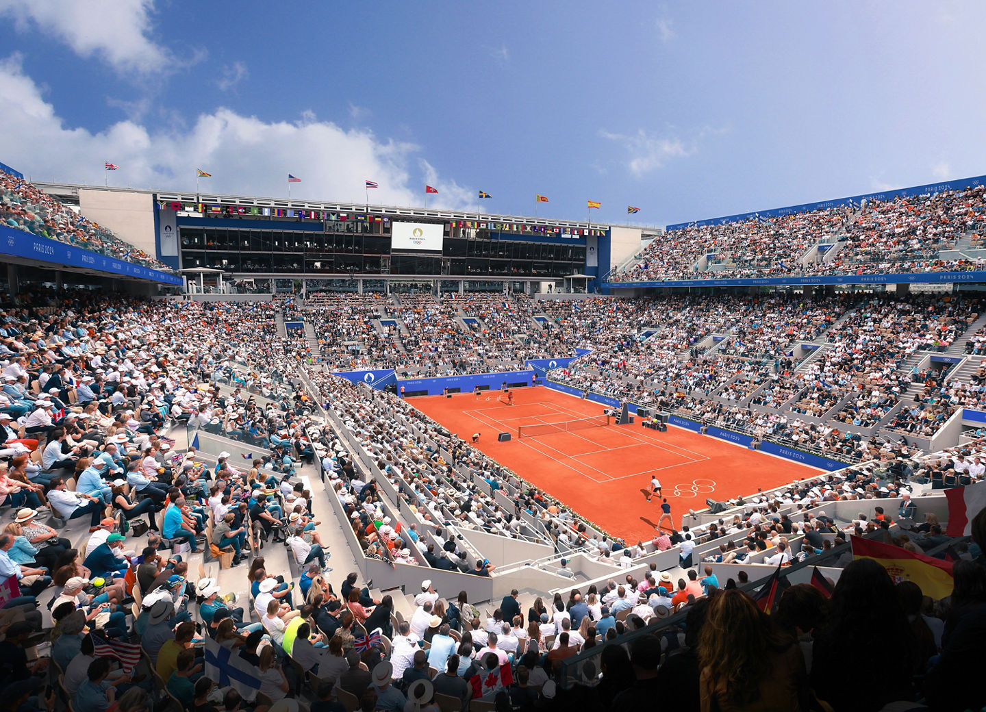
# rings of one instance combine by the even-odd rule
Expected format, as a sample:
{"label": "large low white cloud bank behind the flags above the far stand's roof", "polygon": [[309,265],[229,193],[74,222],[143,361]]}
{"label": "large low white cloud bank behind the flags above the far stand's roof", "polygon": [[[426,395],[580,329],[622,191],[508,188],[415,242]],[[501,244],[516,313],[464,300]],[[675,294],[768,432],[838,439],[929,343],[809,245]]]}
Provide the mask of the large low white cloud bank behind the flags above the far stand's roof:
{"label": "large low white cloud bank behind the flags above the far stand's roof", "polygon": [[304,180],[292,189],[296,197],[363,202],[363,181],[370,179],[380,183],[376,202],[421,205],[419,183],[427,179],[441,191],[431,201],[436,207],[474,202],[471,190],[439,178],[414,144],[346,131],[311,111],[297,121],[268,122],[218,107],[187,127],[153,129],[127,119],[93,133],[65,124],[17,56],[0,60],[0,96],[0,135],[12,139],[3,161],[36,180],[100,184],[103,162],[110,161],[120,167],[112,178],[135,187],[193,190],[201,168],[213,175],[202,187],[222,193],[284,195],[291,173]]}

